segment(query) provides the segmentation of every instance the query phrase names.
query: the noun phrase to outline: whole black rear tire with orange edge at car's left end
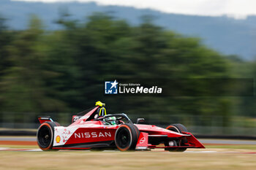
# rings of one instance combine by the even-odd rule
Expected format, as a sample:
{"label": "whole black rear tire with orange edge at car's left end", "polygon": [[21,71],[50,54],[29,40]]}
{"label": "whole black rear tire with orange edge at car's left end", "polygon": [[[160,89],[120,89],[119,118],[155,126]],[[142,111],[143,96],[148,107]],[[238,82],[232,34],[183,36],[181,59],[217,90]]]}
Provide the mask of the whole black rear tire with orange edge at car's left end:
{"label": "whole black rear tire with orange edge at car's left end", "polygon": [[[59,126],[57,122],[45,122],[37,130],[37,144],[44,151],[53,150],[54,127]],[[56,150],[55,150],[56,151]]]}

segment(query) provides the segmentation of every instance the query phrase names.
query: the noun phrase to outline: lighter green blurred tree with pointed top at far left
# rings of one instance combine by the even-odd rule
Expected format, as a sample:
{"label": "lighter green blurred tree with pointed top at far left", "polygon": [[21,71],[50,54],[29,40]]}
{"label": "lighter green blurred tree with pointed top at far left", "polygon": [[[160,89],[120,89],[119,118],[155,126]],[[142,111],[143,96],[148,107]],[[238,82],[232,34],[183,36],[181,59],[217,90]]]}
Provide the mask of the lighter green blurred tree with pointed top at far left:
{"label": "lighter green blurred tree with pointed top at far left", "polygon": [[43,34],[42,24],[32,15],[29,28],[20,31],[9,47],[13,66],[3,77],[4,106],[6,112],[59,112],[64,108],[62,101],[48,97],[44,77],[45,53],[39,39]]}

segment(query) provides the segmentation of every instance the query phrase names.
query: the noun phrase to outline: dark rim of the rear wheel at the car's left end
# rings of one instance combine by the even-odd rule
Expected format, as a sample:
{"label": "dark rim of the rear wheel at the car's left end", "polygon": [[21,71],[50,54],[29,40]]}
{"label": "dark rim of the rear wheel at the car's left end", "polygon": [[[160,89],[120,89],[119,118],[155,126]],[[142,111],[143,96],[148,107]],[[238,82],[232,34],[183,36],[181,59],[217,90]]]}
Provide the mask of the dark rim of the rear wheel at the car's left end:
{"label": "dark rim of the rear wheel at the car's left end", "polygon": [[41,147],[46,148],[51,142],[51,132],[47,125],[43,125],[38,131],[38,142]]}

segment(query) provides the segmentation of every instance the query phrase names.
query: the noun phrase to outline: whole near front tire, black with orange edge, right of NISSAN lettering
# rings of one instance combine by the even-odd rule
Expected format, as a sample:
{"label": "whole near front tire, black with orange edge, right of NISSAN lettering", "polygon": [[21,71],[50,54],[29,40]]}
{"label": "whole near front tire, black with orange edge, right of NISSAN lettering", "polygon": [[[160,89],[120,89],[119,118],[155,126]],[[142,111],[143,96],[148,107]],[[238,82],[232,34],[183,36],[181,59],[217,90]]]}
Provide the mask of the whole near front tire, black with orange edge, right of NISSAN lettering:
{"label": "whole near front tire, black with orange edge, right of NISSAN lettering", "polygon": [[120,125],[116,130],[115,143],[118,150],[127,151],[135,150],[140,131],[130,123]]}

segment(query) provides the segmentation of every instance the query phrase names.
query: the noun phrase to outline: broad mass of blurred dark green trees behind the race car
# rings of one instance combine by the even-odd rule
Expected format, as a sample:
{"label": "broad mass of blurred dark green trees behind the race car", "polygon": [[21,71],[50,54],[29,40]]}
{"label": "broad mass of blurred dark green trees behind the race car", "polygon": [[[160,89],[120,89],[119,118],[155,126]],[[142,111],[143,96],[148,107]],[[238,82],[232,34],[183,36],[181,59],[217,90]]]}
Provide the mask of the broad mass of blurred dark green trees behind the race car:
{"label": "broad mass of blurred dark green trees behind the race car", "polygon": [[243,114],[234,112],[235,104],[253,106],[254,101],[234,98],[104,96],[104,80],[191,79],[191,93],[203,94],[205,82],[195,79],[255,75],[251,63],[219,54],[200,39],[164,30],[151,16],[142,19],[139,26],[130,26],[125,20],[94,13],[80,22],[62,10],[56,21],[62,29],[45,31],[41,20],[32,16],[29,28],[15,34],[1,19],[1,110],[75,112],[102,100],[115,112],[219,115],[228,125],[230,115]]}

